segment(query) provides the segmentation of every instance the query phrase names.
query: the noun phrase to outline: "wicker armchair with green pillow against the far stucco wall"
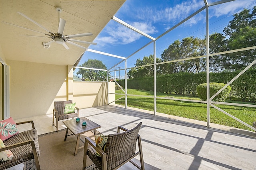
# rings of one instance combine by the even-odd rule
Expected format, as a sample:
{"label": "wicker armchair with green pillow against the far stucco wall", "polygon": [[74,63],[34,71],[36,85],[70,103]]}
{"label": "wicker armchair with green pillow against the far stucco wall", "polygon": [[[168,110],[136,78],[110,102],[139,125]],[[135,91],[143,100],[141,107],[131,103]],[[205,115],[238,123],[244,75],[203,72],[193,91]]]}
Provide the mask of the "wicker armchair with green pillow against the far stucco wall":
{"label": "wicker armchair with green pillow against the far stucco wall", "polygon": [[[72,100],[68,101],[62,101],[62,102],[54,102],[54,109],[52,112],[52,125],[56,126],[57,132],[58,132],[58,121],[64,120],[64,119],[69,119],[69,118],[74,118],[74,117],[79,117],[79,108],[75,107],[77,109],[77,113],[68,113],[64,114],[64,108],[65,104],[72,104]],[[54,124],[54,118],[56,119],[56,125]]]}

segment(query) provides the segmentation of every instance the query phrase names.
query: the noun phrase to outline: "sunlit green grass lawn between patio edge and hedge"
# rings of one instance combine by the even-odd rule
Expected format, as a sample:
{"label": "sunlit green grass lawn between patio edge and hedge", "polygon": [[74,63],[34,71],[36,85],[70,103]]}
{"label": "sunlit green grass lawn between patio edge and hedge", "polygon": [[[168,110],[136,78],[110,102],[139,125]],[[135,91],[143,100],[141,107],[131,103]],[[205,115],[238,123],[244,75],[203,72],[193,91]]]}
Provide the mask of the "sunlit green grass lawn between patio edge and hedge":
{"label": "sunlit green grass lawn between patio edge and hedge", "polygon": [[[116,90],[116,93],[123,92]],[[144,90],[128,89],[127,94],[136,94],[142,96],[154,96],[154,92]],[[180,96],[175,94],[157,93],[158,97],[174,97],[182,99],[200,100],[198,97]],[[121,95],[115,95],[115,98],[120,98]],[[128,96],[128,106],[135,107],[144,110],[154,111],[154,99],[147,97]],[[229,100],[228,102],[234,102]],[[124,98],[115,102],[116,104],[124,105]],[[252,104],[242,102],[243,104]],[[220,109],[230,113],[234,117],[244,121],[248,125],[252,125],[252,122],[256,121],[256,108],[255,107],[242,107],[242,106],[228,106],[228,105],[216,105]],[[200,121],[207,121],[207,106],[203,103],[194,102],[182,102],[177,100],[165,100],[156,99],[156,111],[165,113],[168,115],[175,115],[179,117],[186,117],[189,119],[195,119]],[[216,123],[219,125],[225,125],[230,127],[236,127],[240,129],[246,129],[253,131],[242,123],[232,119],[228,115],[218,111],[217,109],[210,107],[210,123]]]}

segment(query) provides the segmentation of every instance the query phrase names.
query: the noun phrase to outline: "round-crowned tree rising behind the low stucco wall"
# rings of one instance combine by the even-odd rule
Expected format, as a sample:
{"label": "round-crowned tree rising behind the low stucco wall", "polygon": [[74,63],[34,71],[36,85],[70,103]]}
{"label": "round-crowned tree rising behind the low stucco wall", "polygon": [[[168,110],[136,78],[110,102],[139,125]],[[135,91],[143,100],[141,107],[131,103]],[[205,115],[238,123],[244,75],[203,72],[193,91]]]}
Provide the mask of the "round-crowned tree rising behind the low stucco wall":
{"label": "round-crowned tree rising behind the low stucco wall", "polygon": [[[80,67],[107,69],[102,61],[96,59],[88,59]],[[79,69],[76,74],[81,74],[85,81],[106,81],[107,79],[106,71],[101,70]]]}

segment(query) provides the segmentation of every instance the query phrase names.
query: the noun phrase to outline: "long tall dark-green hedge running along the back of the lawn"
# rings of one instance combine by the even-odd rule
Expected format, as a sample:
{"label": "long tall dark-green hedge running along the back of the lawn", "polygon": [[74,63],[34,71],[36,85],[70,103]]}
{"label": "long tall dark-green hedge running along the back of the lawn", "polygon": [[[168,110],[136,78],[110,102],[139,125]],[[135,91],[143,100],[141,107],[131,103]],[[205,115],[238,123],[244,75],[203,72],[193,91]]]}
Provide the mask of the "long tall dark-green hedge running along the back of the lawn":
{"label": "long tall dark-green hedge running along the back of the lawn", "polygon": [[[210,82],[227,84],[240,71],[210,73]],[[156,90],[161,93],[175,93],[188,96],[196,96],[196,87],[206,83],[206,72],[186,73],[179,72],[168,75],[158,75],[156,77]],[[120,80],[120,85],[124,87],[124,80]],[[244,72],[238,79],[230,84],[232,90],[230,97],[238,98],[240,101],[255,102],[256,100],[256,68],[251,68]],[[127,88],[138,90],[154,90],[154,79],[152,76],[127,79]]]}

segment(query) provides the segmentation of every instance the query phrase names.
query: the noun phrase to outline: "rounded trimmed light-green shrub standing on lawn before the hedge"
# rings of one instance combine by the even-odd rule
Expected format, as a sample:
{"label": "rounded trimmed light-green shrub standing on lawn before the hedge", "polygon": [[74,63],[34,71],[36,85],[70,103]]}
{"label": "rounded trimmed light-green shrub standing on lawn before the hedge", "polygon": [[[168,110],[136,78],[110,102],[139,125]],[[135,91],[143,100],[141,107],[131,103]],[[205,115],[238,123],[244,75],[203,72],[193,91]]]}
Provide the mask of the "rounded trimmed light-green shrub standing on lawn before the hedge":
{"label": "rounded trimmed light-green shrub standing on lawn before the hedge", "polygon": [[[216,94],[216,92],[218,92],[221,88],[223,88],[225,85],[226,84],[224,84],[224,83],[215,83],[215,82],[210,83],[210,98],[214,94]],[[198,92],[198,96],[201,100],[206,100],[207,99],[206,87],[207,87],[207,83],[203,83],[203,84],[199,84],[196,88],[196,90]],[[213,98],[212,101],[224,102],[226,100],[226,98],[228,97],[228,94],[230,93],[230,90],[231,90],[230,86],[226,87],[215,98]]]}

